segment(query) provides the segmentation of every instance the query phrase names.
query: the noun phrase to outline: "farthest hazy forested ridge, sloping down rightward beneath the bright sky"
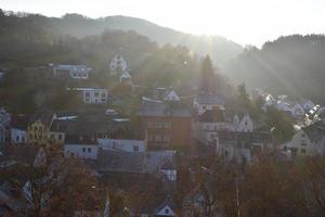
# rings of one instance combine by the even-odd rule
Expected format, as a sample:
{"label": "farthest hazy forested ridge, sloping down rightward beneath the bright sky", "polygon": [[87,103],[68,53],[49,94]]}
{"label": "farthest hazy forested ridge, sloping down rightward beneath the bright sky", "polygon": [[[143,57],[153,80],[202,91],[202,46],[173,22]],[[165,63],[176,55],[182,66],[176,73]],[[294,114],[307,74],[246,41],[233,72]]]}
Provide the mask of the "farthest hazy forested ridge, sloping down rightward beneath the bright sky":
{"label": "farthest hazy forested ridge, sloping down rightward beneath the bright sky", "polygon": [[[186,46],[194,53],[210,54],[219,65],[225,64],[243,51],[243,48],[220,36],[195,36],[166,28],[141,18],[128,16],[107,16],[103,18],[88,18],[79,14],[66,14],[62,18],[28,15],[28,22],[51,29],[53,33],[67,34],[83,38],[89,35],[101,35],[105,29],[134,30],[148,37],[160,46]],[[27,22],[26,21],[26,22]]]}

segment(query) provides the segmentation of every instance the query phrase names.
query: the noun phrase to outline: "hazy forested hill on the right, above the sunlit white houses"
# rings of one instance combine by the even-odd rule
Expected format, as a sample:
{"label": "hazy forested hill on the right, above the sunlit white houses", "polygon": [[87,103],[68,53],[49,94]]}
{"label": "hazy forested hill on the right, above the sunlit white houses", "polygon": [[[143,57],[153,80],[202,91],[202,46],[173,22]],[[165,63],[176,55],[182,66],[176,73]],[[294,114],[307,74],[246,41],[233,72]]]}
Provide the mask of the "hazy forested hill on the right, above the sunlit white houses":
{"label": "hazy forested hill on the right, above the sunlit white houses", "polygon": [[245,49],[224,72],[248,87],[325,103],[325,37],[292,35]]}

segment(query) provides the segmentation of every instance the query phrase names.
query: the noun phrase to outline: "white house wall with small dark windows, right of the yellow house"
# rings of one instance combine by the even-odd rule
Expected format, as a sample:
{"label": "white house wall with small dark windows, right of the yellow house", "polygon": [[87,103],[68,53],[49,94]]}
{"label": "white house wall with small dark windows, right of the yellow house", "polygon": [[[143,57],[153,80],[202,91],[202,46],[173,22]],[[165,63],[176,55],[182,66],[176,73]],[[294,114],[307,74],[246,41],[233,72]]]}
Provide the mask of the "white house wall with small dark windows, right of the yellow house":
{"label": "white house wall with small dark windows, right of the yellow house", "polygon": [[99,155],[98,144],[64,144],[65,157],[96,159],[98,155]]}

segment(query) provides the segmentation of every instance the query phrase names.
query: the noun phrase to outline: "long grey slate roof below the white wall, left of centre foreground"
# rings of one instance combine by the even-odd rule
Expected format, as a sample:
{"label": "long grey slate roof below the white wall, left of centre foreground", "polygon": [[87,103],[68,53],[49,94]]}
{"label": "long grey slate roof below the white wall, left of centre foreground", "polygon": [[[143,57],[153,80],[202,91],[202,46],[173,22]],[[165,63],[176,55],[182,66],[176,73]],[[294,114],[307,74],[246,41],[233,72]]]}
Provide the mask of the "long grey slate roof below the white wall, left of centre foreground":
{"label": "long grey slate roof below the white wall, left of centre foreground", "polygon": [[166,162],[174,162],[174,152],[118,152],[101,150],[95,167],[99,171],[155,174]]}

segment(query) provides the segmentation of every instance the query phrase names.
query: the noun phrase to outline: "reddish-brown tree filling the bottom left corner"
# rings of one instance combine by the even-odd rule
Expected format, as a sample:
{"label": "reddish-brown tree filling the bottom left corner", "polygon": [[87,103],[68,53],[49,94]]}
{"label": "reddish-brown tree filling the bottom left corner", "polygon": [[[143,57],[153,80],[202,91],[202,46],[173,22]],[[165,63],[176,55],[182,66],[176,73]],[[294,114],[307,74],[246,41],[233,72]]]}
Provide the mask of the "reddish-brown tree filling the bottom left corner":
{"label": "reddish-brown tree filling the bottom left corner", "polygon": [[18,162],[1,174],[18,192],[30,216],[65,216],[89,206],[100,208],[99,192],[92,188],[98,181],[89,167],[60,153],[56,149],[42,148],[35,161]]}

